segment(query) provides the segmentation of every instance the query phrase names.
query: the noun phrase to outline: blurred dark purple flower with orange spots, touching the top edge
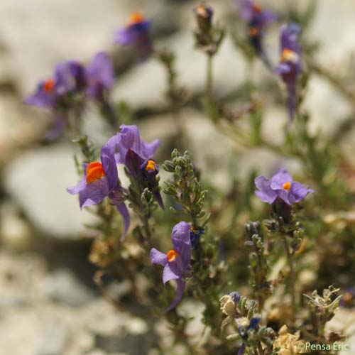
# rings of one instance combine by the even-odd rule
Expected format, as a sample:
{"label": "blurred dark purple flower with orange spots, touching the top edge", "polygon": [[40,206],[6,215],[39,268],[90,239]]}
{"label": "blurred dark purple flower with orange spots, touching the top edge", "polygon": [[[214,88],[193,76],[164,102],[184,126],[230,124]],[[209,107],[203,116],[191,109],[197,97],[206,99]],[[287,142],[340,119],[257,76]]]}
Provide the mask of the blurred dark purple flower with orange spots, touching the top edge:
{"label": "blurred dark purple flower with orange spots, touching the top edge", "polygon": [[260,5],[251,0],[239,0],[239,8],[241,17],[248,23],[251,45],[266,65],[271,67],[263,48],[263,31],[268,24],[277,20],[277,14],[273,11],[263,10]]}

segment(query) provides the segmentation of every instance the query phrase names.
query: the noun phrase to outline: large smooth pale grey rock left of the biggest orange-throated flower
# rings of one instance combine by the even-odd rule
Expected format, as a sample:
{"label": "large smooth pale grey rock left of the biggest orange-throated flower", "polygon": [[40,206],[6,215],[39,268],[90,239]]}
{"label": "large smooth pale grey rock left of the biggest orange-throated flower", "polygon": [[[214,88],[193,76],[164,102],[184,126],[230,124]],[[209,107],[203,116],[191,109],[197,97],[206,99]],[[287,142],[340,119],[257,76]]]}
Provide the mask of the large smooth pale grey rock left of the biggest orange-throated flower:
{"label": "large smooth pale grey rock left of the biggest orange-throated flower", "polygon": [[76,196],[66,188],[78,181],[73,147],[37,148],[20,155],[6,168],[4,186],[43,234],[61,239],[89,235],[83,223],[93,222]]}

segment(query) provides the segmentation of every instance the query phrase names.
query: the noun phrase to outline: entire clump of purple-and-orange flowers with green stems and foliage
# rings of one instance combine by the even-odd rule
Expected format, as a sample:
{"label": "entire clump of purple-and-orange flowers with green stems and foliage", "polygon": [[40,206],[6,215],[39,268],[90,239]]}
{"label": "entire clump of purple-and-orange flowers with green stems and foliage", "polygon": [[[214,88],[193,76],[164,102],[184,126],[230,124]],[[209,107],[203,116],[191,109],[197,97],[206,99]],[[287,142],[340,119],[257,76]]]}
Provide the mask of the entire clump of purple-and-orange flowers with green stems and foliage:
{"label": "entire clump of purple-and-orange flowers with green stems and foliage", "polygon": [[[155,21],[135,12],[112,42],[115,50],[133,49],[138,64],[129,50],[121,52],[120,60],[129,58],[121,66],[100,50],[87,64],[58,64],[25,99],[53,114],[47,138],[69,134],[80,146],[80,181],[67,192],[98,217],[89,225],[89,260],[98,268],[100,293],[143,318],[149,337],[157,339],[142,354],[178,354],[181,347],[194,355],[301,354],[304,342],[344,339],[342,329],[327,327],[339,310],[354,309],[354,168],[337,144],[344,128],[334,138],[312,133],[303,104],[314,74],[334,84],[355,111],[354,92],[315,59],[317,45],[307,39],[313,8],[278,12],[250,0],[237,4],[239,19],[229,11],[224,21],[220,9],[206,3],[185,13],[195,21],[191,36],[206,60],[204,87],[180,84],[179,56],[156,40]],[[266,45],[266,30],[275,24],[280,53]],[[227,92],[215,80],[214,60],[237,26],[234,42],[249,71],[242,82],[231,73],[235,87]],[[124,87],[122,72],[137,65],[145,70],[148,58],[167,74],[167,102],[136,109],[116,102],[111,92],[116,82]],[[264,70],[258,80],[250,75],[253,60],[268,67],[256,67]],[[276,85],[280,79],[287,104]],[[146,85],[156,89],[155,82]],[[283,107],[273,111],[272,123],[265,119],[270,102]],[[100,138],[84,128],[93,107],[104,121],[103,145],[95,146]],[[196,111],[198,125],[188,116]],[[163,134],[169,120],[173,133]],[[270,124],[284,124],[280,139],[273,139]],[[208,136],[200,141],[205,127]],[[154,139],[143,139],[149,136]],[[236,144],[224,145],[224,136]],[[262,169],[261,161],[239,159],[246,150],[268,150],[273,158]],[[280,165],[293,175],[273,169]],[[124,281],[127,295],[115,295],[114,285]],[[199,332],[192,332],[198,322]],[[171,342],[160,341],[162,324]]]}

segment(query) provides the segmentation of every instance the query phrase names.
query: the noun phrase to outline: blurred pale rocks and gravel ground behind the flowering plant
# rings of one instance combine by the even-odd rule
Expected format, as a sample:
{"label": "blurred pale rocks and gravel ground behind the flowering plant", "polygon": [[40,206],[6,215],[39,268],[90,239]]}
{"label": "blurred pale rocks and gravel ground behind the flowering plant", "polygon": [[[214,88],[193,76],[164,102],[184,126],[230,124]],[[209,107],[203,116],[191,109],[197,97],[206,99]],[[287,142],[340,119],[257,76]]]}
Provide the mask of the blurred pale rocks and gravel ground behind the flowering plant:
{"label": "blurred pale rocks and gravel ground behind the flowering plant", "polygon": [[[292,2],[307,6],[310,1]],[[355,50],[354,1],[318,2],[310,28],[312,40],[321,43],[317,59],[346,76],[348,59]],[[267,3],[283,8],[288,1]],[[149,109],[159,111],[164,103],[165,72],[155,60],[132,67],[126,62],[126,52],[115,48],[114,31],[132,11],[145,13],[153,20],[157,45],[177,55],[179,82],[198,92],[204,85],[206,63],[204,55],[195,50],[192,36],[192,8],[197,1],[1,0],[0,4],[0,354],[153,354],[149,349],[155,339],[147,320],[117,311],[92,281],[95,268],[87,258],[92,235],[83,226],[92,217],[80,211],[77,200],[65,192],[77,180],[72,157],[75,145],[67,139],[40,143],[48,116],[22,102],[58,62],[69,58],[86,62],[97,51],[109,50],[121,70],[114,98],[143,112],[138,123],[143,136],[148,141],[161,138],[160,158],[168,158],[165,151],[171,148],[176,129],[173,116],[149,114]],[[209,4],[221,23],[237,11],[234,1]],[[275,52],[277,29],[271,29],[270,40]],[[228,37],[215,60],[215,90],[225,94],[247,76],[261,82],[271,74],[261,63],[249,72]],[[265,134],[278,141],[287,114],[281,105],[266,105]],[[354,105],[322,77],[312,78],[305,107],[312,114],[312,129],[327,135],[354,114]],[[95,143],[108,138],[94,111],[87,112],[85,130]],[[252,168],[265,172],[280,158],[269,151],[236,146],[193,107],[182,111],[182,131],[186,148],[204,169],[204,177],[215,185],[226,182],[231,157],[238,159],[240,175]],[[354,130],[347,131],[339,143],[355,163]],[[121,283],[115,292],[124,297],[129,287]],[[196,305],[185,307],[197,312]],[[354,324],[354,314],[348,311],[346,317]],[[200,329],[197,320],[191,332]],[[163,324],[158,332],[169,344]]]}

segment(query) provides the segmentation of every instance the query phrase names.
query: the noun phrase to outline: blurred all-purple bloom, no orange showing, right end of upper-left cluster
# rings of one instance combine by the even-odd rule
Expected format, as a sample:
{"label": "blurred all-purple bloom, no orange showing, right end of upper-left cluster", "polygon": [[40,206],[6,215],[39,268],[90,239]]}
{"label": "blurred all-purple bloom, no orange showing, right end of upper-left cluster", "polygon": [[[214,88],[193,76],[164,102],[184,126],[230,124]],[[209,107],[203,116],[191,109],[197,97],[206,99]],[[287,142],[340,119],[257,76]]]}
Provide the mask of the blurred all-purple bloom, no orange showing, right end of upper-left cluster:
{"label": "blurred all-purple bloom, no orange showing, right end of upper-left cluster", "polygon": [[92,62],[85,68],[87,81],[87,96],[92,99],[102,100],[104,91],[114,85],[114,65],[109,55],[99,52]]}

